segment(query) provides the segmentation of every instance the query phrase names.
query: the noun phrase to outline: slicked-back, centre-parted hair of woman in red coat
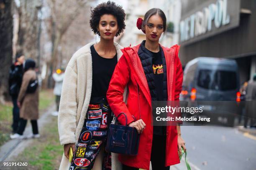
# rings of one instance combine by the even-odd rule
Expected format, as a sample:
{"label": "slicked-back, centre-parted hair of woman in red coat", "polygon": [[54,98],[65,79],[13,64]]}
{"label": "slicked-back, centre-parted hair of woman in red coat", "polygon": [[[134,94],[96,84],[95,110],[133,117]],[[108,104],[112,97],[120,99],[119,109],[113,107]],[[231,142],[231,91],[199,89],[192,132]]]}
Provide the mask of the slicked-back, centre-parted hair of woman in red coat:
{"label": "slicked-back, centre-parted hair of woman in red coat", "polygon": [[142,25],[141,25],[141,29],[142,30],[145,30],[145,25],[148,23],[148,20],[149,20],[149,18],[152,16],[152,15],[159,15],[161,18],[162,18],[162,20],[163,20],[163,22],[164,22],[164,25],[163,25],[163,27],[164,27],[164,32],[166,31],[166,16],[165,16],[165,14],[164,14],[164,11],[162,11],[161,9],[159,9],[159,8],[152,8],[152,9],[150,9],[150,10],[148,10],[147,12],[146,12],[146,14],[145,14],[145,16],[144,16],[144,20],[143,20],[143,23],[142,23]]}

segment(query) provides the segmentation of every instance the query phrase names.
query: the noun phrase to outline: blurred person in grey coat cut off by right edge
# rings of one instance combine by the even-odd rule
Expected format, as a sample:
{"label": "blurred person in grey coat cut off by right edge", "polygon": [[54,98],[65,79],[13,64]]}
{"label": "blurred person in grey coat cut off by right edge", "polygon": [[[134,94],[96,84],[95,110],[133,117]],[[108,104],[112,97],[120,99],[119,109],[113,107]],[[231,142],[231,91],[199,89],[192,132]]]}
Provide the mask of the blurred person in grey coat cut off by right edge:
{"label": "blurred person in grey coat cut off by right edge", "polygon": [[248,82],[246,90],[246,115],[244,117],[244,128],[247,128],[248,120],[250,120],[250,128],[256,128],[256,74],[253,80]]}

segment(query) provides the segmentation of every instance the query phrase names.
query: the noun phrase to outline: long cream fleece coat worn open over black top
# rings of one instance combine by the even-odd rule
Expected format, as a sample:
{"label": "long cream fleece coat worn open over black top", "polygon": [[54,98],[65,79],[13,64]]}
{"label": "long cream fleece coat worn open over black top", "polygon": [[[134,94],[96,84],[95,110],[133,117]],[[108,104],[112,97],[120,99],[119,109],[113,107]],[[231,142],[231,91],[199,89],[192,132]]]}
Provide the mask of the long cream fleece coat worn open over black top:
{"label": "long cream fleece coat worn open over black top", "polygon": [[[91,42],[77,50],[67,65],[61,91],[58,115],[59,140],[61,145],[77,144],[84,125],[92,92],[92,55]],[[115,44],[118,60],[123,55],[120,45]],[[124,93],[126,99],[126,90]],[[102,155],[96,157],[95,164],[101,162]],[[69,160],[62,156],[59,170],[69,170]],[[95,168],[95,167],[94,167]],[[112,153],[112,170],[121,170],[117,154]]]}

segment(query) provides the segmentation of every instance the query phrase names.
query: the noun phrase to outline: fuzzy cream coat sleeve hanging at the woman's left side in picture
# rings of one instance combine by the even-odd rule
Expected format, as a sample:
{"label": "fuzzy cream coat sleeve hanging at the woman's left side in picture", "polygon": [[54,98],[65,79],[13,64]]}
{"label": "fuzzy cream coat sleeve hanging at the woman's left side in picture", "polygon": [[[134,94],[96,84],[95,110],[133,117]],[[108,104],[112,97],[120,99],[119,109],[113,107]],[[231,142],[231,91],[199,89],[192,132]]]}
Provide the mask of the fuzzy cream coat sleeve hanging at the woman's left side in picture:
{"label": "fuzzy cream coat sleeve hanging at the woman's left side in picture", "polygon": [[77,72],[67,66],[59,105],[58,129],[61,145],[75,143],[77,115]]}

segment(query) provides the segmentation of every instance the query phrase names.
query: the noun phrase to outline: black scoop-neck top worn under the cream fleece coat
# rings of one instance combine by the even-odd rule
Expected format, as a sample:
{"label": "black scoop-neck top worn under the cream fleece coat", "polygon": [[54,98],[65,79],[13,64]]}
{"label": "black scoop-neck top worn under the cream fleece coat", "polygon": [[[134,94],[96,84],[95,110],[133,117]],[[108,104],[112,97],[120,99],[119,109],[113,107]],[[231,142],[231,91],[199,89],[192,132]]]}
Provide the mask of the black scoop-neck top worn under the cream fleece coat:
{"label": "black scoop-neck top worn under the cream fleece coat", "polygon": [[105,97],[112,74],[117,64],[117,54],[113,58],[103,58],[90,47],[92,53],[92,95],[91,97]]}

